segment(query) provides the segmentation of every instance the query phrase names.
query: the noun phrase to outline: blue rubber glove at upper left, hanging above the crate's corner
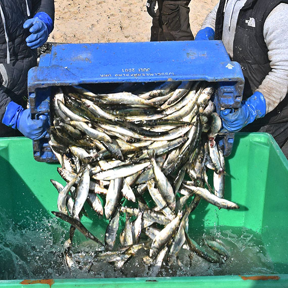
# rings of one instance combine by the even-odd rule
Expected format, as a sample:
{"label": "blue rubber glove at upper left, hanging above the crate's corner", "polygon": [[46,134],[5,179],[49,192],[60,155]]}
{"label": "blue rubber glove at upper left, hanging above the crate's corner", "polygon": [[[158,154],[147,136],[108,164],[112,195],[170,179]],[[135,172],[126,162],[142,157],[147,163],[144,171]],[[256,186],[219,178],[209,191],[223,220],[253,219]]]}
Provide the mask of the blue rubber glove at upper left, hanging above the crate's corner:
{"label": "blue rubber glove at upper left, hanging above the crate's corner", "polygon": [[26,20],[23,28],[31,32],[31,35],[26,38],[27,46],[36,49],[47,41],[53,29],[53,21],[45,12],[39,12],[33,18]]}

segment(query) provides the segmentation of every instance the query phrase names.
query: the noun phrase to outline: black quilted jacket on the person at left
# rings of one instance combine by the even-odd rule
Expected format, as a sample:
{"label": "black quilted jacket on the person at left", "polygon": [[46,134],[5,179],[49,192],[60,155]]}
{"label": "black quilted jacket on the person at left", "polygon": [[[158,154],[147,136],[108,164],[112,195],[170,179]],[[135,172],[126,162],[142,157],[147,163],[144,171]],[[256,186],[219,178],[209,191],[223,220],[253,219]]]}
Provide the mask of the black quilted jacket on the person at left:
{"label": "black quilted jacket on the person at left", "polygon": [[[25,106],[27,73],[36,65],[36,50],[26,45],[24,22],[38,12],[47,13],[54,23],[54,0],[0,0],[0,123],[9,102]],[[9,47],[10,63],[7,63]],[[24,107],[25,108],[25,107]],[[0,130],[3,128],[1,124]],[[3,129],[2,129],[3,130]],[[1,135],[0,131],[0,136]]]}

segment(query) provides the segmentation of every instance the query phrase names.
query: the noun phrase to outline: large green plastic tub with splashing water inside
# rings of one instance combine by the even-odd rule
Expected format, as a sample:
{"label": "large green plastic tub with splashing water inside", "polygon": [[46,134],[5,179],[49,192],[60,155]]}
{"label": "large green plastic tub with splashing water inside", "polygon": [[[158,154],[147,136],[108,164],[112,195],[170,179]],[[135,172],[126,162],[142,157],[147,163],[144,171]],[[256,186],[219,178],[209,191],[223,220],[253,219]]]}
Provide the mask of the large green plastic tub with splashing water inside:
{"label": "large green plastic tub with splashing water inside", "polygon": [[[36,162],[32,141],[27,138],[0,139],[0,286],[27,288],[30,287],[27,284],[31,284],[31,288],[120,288],[129,284],[133,287],[165,288],[175,285],[181,288],[288,287],[287,159],[269,134],[237,133],[226,166],[225,198],[236,202],[240,209],[219,210],[203,202],[203,206],[195,210],[195,215],[191,215],[189,227],[199,234],[207,234],[209,229],[219,232],[222,227],[232,234],[234,230],[241,230],[241,237],[245,234],[244,230],[255,233],[261,242],[259,247],[271,260],[272,273],[266,273],[267,270],[263,268],[258,270],[260,272],[247,274],[245,266],[249,265],[243,263],[244,267],[239,272],[236,270],[227,275],[156,278],[79,278],[71,275],[64,279],[63,275],[49,276],[50,264],[47,266],[45,263],[47,259],[31,256],[31,249],[39,252],[60,249],[63,234],[67,234],[69,228],[51,213],[57,211],[58,195],[50,179],[62,180],[56,169],[58,165]],[[83,224],[103,239],[105,222],[94,217],[92,220],[85,218]],[[47,241],[41,242],[46,237]],[[34,240],[40,241],[40,246],[35,246]],[[249,246],[250,242],[246,243]],[[27,254],[27,262],[23,263],[23,259],[17,258],[17,253],[22,253],[22,256]],[[245,249],[242,257],[245,257],[244,253]],[[59,260],[59,255],[55,253],[49,261],[63,260]],[[33,269],[37,263],[44,269],[43,276],[17,277],[21,271]],[[9,275],[13,276],[9,278]]]}

